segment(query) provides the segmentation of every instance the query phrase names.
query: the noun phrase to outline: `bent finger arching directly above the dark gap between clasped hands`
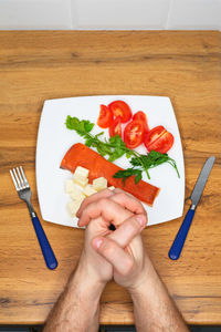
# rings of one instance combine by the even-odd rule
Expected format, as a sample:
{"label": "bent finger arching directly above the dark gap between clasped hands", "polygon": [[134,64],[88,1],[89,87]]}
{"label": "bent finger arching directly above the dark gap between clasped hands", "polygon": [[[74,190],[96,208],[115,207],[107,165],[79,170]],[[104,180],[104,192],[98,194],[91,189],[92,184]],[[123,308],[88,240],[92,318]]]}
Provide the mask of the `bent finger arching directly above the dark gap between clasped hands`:
{"label": "bent finger arching directly above the dark gap between clasped hands", "polygon": [[119,204],[108,199],[102,198],[85,207],[81,214],[78,226],[85,226],[91,219],[103,217],[109,224],[114,226],[120,225],[125,219],[129,218],[133,214]]}

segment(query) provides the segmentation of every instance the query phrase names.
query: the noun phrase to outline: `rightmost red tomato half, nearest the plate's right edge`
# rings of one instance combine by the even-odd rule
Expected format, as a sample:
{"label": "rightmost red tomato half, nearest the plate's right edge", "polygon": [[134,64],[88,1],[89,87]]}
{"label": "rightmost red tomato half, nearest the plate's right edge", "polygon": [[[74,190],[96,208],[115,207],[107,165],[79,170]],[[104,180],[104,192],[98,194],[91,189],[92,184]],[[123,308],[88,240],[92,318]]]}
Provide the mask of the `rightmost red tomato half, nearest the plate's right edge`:
{"label": "rightmost red tomato half, nearest the plate's right edge", "polygon": [[166,154],[173,144],[173,136],[164,126],[157,126],[149,131],[145,137],[145,146],[150,151]]}

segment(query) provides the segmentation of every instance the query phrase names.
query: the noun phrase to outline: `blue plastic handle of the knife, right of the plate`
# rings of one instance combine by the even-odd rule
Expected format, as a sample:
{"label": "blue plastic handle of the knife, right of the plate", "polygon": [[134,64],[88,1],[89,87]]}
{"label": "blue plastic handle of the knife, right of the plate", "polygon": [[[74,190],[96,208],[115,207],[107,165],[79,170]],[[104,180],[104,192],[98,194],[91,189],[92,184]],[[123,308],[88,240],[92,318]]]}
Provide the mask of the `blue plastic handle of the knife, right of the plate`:
{"label": "blue plastic handle of the knife, right of the plate", "polygon": [[189,209],[169,250],[168,255],[170,259],[176,260],[180,257],[193,216],[194,210]]}

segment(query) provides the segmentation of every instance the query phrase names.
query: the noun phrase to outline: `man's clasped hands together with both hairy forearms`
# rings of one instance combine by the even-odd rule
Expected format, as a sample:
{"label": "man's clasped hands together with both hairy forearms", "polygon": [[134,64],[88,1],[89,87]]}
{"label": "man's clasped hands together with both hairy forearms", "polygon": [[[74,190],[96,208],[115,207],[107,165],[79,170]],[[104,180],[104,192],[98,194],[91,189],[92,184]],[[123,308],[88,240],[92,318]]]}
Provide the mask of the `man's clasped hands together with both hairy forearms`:
{"label": "man's clasped hands together with both hairy forearms", "polygon": [[[140,232],[147,215],[143,205],[120,189],[106,189],[86,198],[77,217],[78,226],[86,226],[82,256],[44,332],[98,331],[99,299],[112,278],[131,295],[137,331],[187,332],[144,250]],[[110,224],[116,230],[109,229]]]}

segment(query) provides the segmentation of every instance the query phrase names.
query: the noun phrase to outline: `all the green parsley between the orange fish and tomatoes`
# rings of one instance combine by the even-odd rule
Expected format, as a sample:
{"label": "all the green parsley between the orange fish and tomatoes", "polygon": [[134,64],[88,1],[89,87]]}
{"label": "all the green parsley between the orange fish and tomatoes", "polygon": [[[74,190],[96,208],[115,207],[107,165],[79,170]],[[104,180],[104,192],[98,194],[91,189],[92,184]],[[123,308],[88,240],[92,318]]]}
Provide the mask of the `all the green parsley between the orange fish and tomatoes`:
{"label": "all the green parsley between the orange fish and tomatoes", "polygon": [[138,152],[126,147],[118,135],[101,141],[99,136],[102,136],[104,132],[92,135],[91,131],[93,129],[94,124],[87,120],[81,121],[75,116],[72,117],[67,115],[65,124],[69,129],[75,131],[85,139],[86,146],[95,147],[103,157],[108,156],[109,162],[114,162],[124,155],[126,155],[127,158],[130,158],[129,163],[133,167],[125,170],[118,170],[114,175],[115,178],[122,178],[124,184],[125,180],[133,175],[135,176],[135,184],[137,184],[143,177],[143,172],[145,172],[150,179],[148,170],[164,163],[170,164],[177,172],[178,177],[180,177],[175,159],[170,158],[168,154],[161,154],[156,151],[151,151],[147,155],[139,154]]}

